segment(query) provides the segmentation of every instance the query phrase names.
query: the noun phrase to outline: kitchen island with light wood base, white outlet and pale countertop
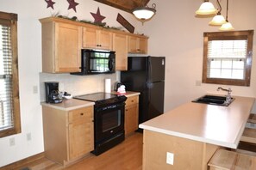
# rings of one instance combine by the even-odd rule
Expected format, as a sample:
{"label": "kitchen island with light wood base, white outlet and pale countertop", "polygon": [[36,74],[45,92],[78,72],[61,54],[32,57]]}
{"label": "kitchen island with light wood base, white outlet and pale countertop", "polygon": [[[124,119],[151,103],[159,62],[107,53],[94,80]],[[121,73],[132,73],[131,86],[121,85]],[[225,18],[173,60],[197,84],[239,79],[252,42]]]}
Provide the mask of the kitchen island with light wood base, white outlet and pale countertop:
{"label": "kitchen island with light wood base, white outlet and pale countertop", "polygon": [[189,102],[140,124],[143,169],[207,169],[217,149],[236,149],[254,98],[234,98],[229,106]]}

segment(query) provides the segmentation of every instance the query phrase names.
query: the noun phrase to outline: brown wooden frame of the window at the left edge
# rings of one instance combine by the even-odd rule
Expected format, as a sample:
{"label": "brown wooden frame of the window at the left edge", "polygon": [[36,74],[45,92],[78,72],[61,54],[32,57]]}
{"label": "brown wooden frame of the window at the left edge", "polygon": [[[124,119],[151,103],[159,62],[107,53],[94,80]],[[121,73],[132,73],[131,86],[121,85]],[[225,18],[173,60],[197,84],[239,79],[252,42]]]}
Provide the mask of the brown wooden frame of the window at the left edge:
{"label": "brown wooden frame of the window at the left edge", "polygon": [[13,128],[0,131],[0,137],[8,137],[22,132],[19,97],[19,74],[18,74],[18,49],[17,49],[17,14],[0,11],[0,24],[10,26],[10,38],[12,46],[12,92],[13,92]]}

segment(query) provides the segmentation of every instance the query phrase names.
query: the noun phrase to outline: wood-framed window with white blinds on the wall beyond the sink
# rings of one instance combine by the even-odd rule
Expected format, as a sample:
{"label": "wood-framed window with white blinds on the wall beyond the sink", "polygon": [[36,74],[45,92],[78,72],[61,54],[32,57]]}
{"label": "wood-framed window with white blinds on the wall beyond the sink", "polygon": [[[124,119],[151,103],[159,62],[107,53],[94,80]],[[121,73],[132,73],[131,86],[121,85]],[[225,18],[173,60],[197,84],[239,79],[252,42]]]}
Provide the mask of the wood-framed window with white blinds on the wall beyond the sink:
{"label": "wood-framed window with white blinds on the wall beyond the sink", "polygon": [[203,82],[250,86],[253,30],[203,33]]}

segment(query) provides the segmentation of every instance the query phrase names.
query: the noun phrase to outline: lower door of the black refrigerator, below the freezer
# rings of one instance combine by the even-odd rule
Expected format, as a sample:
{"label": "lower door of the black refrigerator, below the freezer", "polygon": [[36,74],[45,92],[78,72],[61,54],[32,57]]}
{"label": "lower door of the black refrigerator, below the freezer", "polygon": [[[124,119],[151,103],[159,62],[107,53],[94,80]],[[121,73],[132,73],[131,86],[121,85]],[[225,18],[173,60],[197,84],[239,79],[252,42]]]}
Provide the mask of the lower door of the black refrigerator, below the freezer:
{"label": "lower door of the black refrigerator, below the freezer", "polygon": [[165,82],[149,82],[147,118],[155,118],[164,113]]}

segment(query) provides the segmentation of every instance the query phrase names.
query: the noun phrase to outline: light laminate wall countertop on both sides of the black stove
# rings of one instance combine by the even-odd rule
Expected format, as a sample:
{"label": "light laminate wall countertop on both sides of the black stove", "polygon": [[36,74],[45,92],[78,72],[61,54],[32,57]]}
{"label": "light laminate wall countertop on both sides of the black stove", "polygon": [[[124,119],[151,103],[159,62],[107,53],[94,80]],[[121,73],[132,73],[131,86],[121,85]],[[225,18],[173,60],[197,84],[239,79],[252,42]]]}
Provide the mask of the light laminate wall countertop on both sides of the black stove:
{"label": "light laminate wall countertop on both sides of the black stove", "polygon": [[[116,92],[111,92],[112,94],[116,94]],[[126,94],[123,94],[127,97],[132,97],[135,95],[139,95],[139,92],[131,92],[127,91]],[[53,104],[53,103],[46,103],[41,102],[41,105],[43,106],[50,106],[59,110],[63,111],[71,111],[74,109],[82,108],[85,106],[93,106],[95,103],[92,101],[86,101],[86,100],[76,100],[76,99],[64,99],[61,103]]]}

